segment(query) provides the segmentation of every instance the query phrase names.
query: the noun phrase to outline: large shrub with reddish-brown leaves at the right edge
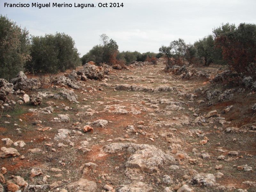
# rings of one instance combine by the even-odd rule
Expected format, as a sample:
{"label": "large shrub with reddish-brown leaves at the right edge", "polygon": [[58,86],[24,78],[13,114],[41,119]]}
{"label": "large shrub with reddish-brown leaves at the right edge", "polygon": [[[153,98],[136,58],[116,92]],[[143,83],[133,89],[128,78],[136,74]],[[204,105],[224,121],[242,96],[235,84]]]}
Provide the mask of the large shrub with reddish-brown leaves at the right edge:
{"label": "large shrub with reddish-brown leaves at the right edge", "polygon": [[256,25],[241,23],[239,26],[222,25],[214,29],[215,42],[222,50],[229,68],[242,76],[255,73]]}

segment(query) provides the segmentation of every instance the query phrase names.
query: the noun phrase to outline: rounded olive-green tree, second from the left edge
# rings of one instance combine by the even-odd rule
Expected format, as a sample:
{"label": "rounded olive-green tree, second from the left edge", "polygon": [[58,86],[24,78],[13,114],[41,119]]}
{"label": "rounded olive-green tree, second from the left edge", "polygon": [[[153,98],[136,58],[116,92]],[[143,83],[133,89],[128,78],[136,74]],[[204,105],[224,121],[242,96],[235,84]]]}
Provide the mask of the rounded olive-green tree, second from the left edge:
{"label": "rounded olive-green tree, second from the left edge", "polygon": [[64,34],[32,36],[30,44],[31,60],[25,64],[29,72],[64,72],[80,64],[79,53],[74,40]]}

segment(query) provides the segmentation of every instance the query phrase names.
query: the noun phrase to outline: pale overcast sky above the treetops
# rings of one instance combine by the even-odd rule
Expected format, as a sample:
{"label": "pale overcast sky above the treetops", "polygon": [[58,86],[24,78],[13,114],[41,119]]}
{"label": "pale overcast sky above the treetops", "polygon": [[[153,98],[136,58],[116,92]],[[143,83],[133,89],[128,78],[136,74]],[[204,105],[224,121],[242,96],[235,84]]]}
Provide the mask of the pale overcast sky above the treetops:
{"label": "pale overcast sky above the treetops", "polygon": [[[169,45],[182,38],[194,43],[212,33],[221,23],[256,22],[255,0],[0,0],[0,13],[14,20],[30,35],[41,36],[64,32],[76,42],[83,56],[100,44],[105,33],[119,45],[119,51],[158,52],[161,45]],[[110,3],[123,7],[109,7]],[[4,3],[25,3],[28,8],[4,7]],[[49,4],[39,9],[32,3]],[[68,3],[72,7],[52,7],[52,3]],[[96,7],[79,8],[77,4]],[[98,4],[108,4],[99,7]]]}

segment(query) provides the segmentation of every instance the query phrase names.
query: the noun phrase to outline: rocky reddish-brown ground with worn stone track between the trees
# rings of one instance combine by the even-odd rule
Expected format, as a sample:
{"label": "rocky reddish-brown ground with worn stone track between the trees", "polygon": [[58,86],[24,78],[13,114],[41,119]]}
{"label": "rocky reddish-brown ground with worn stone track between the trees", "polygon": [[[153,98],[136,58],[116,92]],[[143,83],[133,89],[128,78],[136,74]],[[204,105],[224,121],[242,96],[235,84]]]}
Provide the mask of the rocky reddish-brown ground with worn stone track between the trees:
{"label": "rocky reddish-brown ground with worn stone track between the trees", "polygon": [[0,191],[255,192],[256,83],[164,67],[0,79]]}

